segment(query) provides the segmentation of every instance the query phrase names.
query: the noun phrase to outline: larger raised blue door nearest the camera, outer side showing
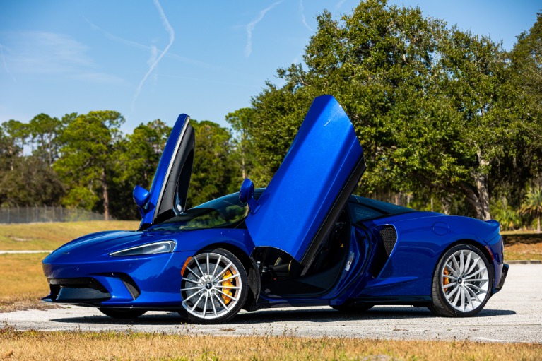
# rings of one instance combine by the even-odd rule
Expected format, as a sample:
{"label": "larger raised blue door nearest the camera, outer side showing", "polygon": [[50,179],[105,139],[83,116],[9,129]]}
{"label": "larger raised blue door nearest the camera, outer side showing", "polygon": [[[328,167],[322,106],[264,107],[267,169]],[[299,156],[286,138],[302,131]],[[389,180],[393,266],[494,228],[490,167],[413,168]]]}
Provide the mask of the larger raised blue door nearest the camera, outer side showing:
{"label": "larger raised blue door nearest the camera, outer side showing", "polygon": [[346,112],[334,97],[317,97],[246,219],[254,245],[281,249],[310,266],[364,171]]}

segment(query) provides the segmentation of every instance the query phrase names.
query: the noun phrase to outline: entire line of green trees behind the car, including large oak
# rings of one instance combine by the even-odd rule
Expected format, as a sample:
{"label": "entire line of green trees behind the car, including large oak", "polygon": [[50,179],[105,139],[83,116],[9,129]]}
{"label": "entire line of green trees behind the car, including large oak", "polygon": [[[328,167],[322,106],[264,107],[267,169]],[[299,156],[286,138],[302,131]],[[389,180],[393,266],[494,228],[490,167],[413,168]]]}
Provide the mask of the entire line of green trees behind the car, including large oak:
{"label": "entire line of green trees behind the car, including large oak", "polygon": [[[505,228],[539,220],[541,14],[510,51],[384,0],[362,1],[341,18],[324,11],[317,21],[303,61],[279,68],[251,107],[228,114],[231,129],[193,122],[192,205],[235,191],[244,177],[264,187],[314,97],[331,94],[365,150],[356,193],[496,218]],[[122,134],[123,122],[112,111],[5,122],[0,203],[136,218],[131,189],[150,186],[170,128],[155,120]]]}

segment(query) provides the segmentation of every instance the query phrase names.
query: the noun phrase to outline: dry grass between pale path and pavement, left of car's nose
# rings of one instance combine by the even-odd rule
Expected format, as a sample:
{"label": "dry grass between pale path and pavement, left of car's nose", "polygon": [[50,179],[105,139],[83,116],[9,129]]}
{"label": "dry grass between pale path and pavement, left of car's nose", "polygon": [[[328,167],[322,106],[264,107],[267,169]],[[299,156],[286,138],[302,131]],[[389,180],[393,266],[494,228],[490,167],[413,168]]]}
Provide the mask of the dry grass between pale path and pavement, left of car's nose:
{"label": "dry grass between pale path and pavement, left of car's nose", "polygon": [[41,264],[45,256],[0,254],[0,312],[47,306],[40,303],[49,294]]}

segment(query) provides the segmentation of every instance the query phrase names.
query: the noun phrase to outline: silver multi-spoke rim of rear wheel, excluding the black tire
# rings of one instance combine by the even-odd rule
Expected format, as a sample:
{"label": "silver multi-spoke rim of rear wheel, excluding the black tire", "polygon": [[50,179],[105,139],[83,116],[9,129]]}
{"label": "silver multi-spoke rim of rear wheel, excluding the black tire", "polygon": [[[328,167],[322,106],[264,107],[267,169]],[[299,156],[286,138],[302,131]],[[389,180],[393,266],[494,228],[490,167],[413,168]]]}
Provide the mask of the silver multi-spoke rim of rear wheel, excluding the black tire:
{"label": "silver multi-spoke rim of rear wheel, excluding the black tire", "polygon": [[448,257],[440,274],[444,298],[460,312],[471,312],[489,295],[489,273],[475,251],[461,249]]}

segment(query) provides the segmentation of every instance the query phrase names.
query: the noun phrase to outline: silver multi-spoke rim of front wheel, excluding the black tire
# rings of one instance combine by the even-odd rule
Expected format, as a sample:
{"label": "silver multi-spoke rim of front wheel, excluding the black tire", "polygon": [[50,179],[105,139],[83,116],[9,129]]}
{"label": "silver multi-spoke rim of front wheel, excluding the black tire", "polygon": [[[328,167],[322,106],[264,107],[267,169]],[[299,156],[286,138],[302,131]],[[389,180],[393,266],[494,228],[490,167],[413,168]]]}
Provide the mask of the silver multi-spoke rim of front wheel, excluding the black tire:
{"label": "silver multi-spoke rim of front wheel, excluding the black tire", "polygon": [[237,266],[216,253],[201,253],[190,259],[182,285],[182,307],[198,319],[228,314],[239,302],[243,287]]}

